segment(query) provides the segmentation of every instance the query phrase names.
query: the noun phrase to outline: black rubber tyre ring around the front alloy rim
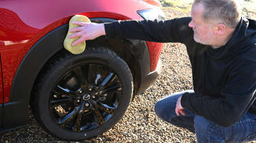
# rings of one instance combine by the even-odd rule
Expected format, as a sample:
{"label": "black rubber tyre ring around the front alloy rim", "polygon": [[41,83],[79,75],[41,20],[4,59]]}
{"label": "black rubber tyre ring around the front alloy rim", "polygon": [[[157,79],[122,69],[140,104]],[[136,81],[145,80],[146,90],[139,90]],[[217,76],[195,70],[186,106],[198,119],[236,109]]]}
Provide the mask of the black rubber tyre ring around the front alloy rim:
{"label": "black rubber tyre ring around the front alloy rim", "polygon": [[[130,99],[132,97],[132,76],[130,74],[130,70],[127,71],[128,66],[124,65],[124,61],[116,58],[115,56],[88,50],[83,54],[70,54],[68,59],[55,63],[55,68],[48,71],[48,77],[46,76],[46,79],[44,79],[44,83],[40,88],[40,92],[38,92],[40,93],[40,99],[38,99],[39,118],[48,131],[64,140],[84,140],[86,138],[91,138],[104,133],[113,127],[113,125],[115,125],[120,118],[122,118],[126,112],[126,109],[128,108],[128,105],[130,104]],[[115,114],[111,117],[111,119],[109,119],[109,121],[106,121],[104,125],[101,125],[100,127],[97,127],[91,131],[79,133],[68,131],[57,125],[49,110],[49,97],[51,94],[51,89],[53,89],[55,84],[59,81],[59,78],[61,78],[60,75],[65,74],[68,72],[68,69],[72,69],[72,67],[85,63],[85,61],[98,61],[110,69],[114,69],[122,83],[122,97],[119,99],[119,105],[115,111]]]}

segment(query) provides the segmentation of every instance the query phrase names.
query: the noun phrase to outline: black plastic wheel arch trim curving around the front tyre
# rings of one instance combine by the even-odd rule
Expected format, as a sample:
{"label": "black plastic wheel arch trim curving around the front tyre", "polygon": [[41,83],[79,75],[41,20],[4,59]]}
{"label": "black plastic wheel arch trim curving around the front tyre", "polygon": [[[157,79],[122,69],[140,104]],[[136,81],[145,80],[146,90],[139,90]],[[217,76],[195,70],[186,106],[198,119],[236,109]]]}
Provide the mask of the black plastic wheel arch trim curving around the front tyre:
{"label": "black plastic wheel arch trim curving around the front tyre", "polygon": [[[111,22],[111,20],[113,20],[109,18],[90,19],[92,22]],[[46,64],[46,62],[51,59],[54,54],[60,50],[63,50],[62,42],[65,39],[67,32],[68,25],[66,24],[54,29],[47,35],[44,35],[44,37],[42,37],[36,44],[33,45],[33,47],[23,58],[23,61],[20,62],[12,82],[10,102],[5,104],[5,107],[8,108],[8,111],[15,110],[16,112],[10,113],[6,111],[8,114],[5,114],[4,121],[8,123],[5,124],[5,129],[27,124],[27,109],[31,91],[33,89],[33,84],[42,67],[44,67],[44,64]],[[136,93],[138,91],[136,88],[139,88],[139,82],[141,79],[141,69],[139,68],[141,63],[139,63],[139,61],[134,58],[141,57],[138,54],[142,54],[145,49],[141,49],[141,53],[134,52],[134,42],[130,39],[106,39],[104,37],[99,37],[95,41],[91,40],[91,42],[100,42],[100,44],[106,44],[109,46],[109,48],[111,48],[111,50],[116,52],[120,57],[124,58],[124,61],[128,63],[132,75],[134,76],[134,93]],[[135,43],[138,44],[138,41],[135,40]],[[139,42],[139,44],[145,44],[145,42]],[[120,50],[119,46],[125,46],[127,50]],[[33,70],[31,70],[31,68],[33,68]],[[137,72],[135,70],[137,70]],[[15,119],[10,121],[10,118],[16,117],[18,118],[18,121]]]}

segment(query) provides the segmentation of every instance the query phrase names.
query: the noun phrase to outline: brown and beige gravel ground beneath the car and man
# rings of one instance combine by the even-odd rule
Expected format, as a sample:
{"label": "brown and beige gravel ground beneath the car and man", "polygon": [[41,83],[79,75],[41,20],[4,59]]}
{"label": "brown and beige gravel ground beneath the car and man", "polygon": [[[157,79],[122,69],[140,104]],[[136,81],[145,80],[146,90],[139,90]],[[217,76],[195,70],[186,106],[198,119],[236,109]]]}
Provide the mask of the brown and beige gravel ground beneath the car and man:
{"label": "brown and beige gravel ground beneath the car and man", "polygon": [[[188,16],[164,9],[167,18]],[[145,93],[137,95],[117,125],[102,136],[83,142],[196,142],[195,133],[161,121],[154,113],[156,101],[177,91],[193,89],[190,62],[182,44],[165,44],[162,74]],[[0,142],[63,142],[46,133],[29,110],[28,126],[0,133]]]}

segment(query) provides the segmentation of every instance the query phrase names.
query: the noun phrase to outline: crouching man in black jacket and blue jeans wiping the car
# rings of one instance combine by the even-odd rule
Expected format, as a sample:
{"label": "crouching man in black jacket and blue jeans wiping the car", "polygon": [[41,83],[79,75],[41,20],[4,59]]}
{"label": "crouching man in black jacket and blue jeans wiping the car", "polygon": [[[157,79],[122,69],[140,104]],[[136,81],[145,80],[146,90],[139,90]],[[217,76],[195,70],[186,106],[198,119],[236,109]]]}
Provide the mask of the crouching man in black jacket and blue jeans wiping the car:
{"label": "crouching man in black jacket and blue jeans wiping the car", "polygon": [[180,42],[192,65],[194,91],[156,103],[164,121],[195,131],[198,142],[256,140],[256,21],[235,0],[195,0],[191,17],[165,21],[74,22],[76,45],[100,35]]}

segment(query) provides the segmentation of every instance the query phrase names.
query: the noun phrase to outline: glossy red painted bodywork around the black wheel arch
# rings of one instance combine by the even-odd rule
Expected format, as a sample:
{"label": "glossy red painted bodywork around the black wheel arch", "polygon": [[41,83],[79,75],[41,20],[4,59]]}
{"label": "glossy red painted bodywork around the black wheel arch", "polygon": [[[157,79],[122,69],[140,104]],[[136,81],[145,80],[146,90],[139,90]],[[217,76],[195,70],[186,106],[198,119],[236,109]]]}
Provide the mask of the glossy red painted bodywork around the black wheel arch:
{"label": "glossy red painted bodywork around the black wheel arch", "polygon": [[[85,5],[81,3],[85,3]],[[98,5],[98,3],[101,3],[101,5]],[[12,80],[27,51],[51,30],[66,24],[72,15],[82,14],[89,18],[106,17],[116,20],[136,20],[140,18],[137,14],[139,8],[152,7],[148,4],[148,1],[137,0],[96,0],[90,1],[90,3],[86,3],[84,0],[61,1],[61,3],[49,0],[27,0],[20,3],[11,0],[0,1],[0,5],[0,19],[4,19],[4,21],[0,20],[0,52],[3,55],[3,91],[5,91],[3,103],[9,101]],[[115,5],[125,5],[129,7],[129,10]],[[67,8],[68,10],[66,10]],[[116,12],[119,12],[119,14]],[[125,16],[127,14],[129,15]],[[15,50],[10,50],[12,48],[15,48]],[[152,48],[150,47],[150,50]],[[152,55],[150,56],[152,57]],[[154,69],[155,65],[156,63],[152,65],[151,69]]]}

